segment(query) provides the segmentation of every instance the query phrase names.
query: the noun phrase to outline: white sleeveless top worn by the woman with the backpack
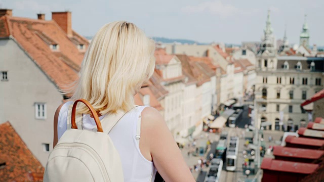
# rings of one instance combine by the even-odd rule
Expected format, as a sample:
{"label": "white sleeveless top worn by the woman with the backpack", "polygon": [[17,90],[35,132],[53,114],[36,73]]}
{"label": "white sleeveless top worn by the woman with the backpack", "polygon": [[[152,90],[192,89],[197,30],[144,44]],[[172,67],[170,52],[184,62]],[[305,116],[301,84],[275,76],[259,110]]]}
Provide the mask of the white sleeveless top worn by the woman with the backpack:
{"label": "white sleeveless top worn by the woman with the backpack", "polygon": [[[67,112],[71,104],[73,104],[72,101],[65,103],[60,110],[57,123],[58,140],[66,130]],[[120,156],[125,182],[150,181],[150,179],[154,181],[155,178],[154,164],[141,154],[135,138],[137,119],[145,107],[147,106],[139,106],[129,111],[109,132]],[[105,115],[100,116],[99,119],[102,120],[104,117]],[[84,114],[82,126],[84,129],[92,130],[96,123],[89,114]]]}

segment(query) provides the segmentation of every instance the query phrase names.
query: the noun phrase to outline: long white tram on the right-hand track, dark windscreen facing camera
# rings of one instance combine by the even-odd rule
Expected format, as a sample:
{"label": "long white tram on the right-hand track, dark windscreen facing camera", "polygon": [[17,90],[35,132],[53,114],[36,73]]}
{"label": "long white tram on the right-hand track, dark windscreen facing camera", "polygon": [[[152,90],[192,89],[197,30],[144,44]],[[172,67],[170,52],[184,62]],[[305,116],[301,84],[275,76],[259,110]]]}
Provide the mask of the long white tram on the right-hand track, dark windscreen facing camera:
{"label": "long white tram on the right-hand track, dark windscreen facing camera", "polygon": [[238,145],[239,138],[236,136],[232,136],[230,138],[229,146],[226,152],[226,170],[227,171],[235,171],[236,163],[237,163],[237,155],[238,155]]}

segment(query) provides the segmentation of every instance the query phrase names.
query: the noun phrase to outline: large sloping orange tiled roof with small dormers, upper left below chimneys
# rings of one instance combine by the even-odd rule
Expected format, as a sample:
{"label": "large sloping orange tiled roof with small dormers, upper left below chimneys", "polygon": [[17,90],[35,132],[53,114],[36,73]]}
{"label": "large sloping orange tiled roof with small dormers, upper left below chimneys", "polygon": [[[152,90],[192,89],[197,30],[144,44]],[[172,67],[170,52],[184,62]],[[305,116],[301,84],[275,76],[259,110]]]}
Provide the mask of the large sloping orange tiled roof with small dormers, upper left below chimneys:
{"label": "large sloping orange tiled roof with small dormers, upper left below chimneys", "polygon": [[[77,49],[77,43],[88,40],[73,31],[67,34],[54,20],[38,20],[3,16],[0,18],[0,37],[13,37],[26,54],[41,68],[53,83],[61,89],[78,78],[84,52]],[[59,50],[50,49],[50,44],[58,44]]]}

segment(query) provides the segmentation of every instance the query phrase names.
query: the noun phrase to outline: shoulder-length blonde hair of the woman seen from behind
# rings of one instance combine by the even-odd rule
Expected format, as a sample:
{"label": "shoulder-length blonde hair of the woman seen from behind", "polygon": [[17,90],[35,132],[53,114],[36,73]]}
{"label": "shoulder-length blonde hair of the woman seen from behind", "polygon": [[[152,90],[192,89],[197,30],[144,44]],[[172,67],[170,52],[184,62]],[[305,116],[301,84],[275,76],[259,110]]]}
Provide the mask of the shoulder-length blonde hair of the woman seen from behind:
{"label": "shoulder-length blonde hair of the woman seen from behind", "polygon": [[[154,71],[153,40],[133,23],[104,25],[82,62],[72,100],[85,99],[101,115],[134,107],[134,95]],[[84,105],[79,113],[89,113]]]}

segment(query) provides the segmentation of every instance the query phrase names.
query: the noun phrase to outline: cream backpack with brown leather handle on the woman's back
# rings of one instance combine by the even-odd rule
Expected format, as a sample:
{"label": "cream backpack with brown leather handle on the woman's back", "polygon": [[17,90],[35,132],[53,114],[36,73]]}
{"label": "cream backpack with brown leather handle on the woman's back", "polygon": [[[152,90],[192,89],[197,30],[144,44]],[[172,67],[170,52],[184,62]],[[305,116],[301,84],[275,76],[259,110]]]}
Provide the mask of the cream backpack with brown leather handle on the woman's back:
{"label": "cream backpack with brown leather handle on the woman's back", "polygon": [[[82,129],[82,114],[75,117],[78,102],[88,106],[98,131]],[[44,181],[124,181],[119,154],[107,134],[124,115],[122,111],[108,115],[102,119],[105,122],[101,125],[89,102],[84,99],[75,101],[68,111],[68,129],[47,161]]]}

